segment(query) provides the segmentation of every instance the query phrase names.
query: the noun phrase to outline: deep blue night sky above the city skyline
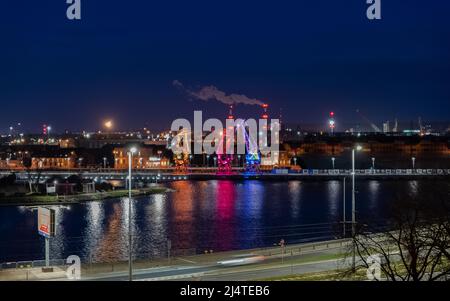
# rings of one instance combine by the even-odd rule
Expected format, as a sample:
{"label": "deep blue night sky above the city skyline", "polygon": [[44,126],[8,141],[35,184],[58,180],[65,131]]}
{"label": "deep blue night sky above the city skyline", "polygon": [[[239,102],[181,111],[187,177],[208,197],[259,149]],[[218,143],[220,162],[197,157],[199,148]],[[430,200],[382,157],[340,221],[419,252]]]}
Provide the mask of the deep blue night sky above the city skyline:
{"label": "deep blue night sky above the city skyline", "polygon": [[[22,122],[64,129],[167,128],[194,109],[224,117],[219,102],[189,100],[172,85],[214,85],[271,104],[290,122],[448,121],[450,2],[382,0],[3,1],[0,132]],[[242,116],[260,109],[239,106]],[[257,114],[256,114],[257,113]]]}

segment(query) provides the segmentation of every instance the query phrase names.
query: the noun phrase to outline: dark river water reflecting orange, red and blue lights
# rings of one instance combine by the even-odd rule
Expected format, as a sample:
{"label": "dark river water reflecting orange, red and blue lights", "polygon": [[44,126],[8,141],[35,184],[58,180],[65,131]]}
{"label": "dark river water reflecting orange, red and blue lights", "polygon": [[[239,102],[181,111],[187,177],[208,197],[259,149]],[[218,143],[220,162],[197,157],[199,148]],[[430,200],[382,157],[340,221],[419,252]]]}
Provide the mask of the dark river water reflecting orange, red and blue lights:
{"label": "dark river water reflecting orange, red and blue lights", "polygon": [[[347,219],[351,186],[346,185]],[[393,195],[417,181],[358,181],[357,215],[383,218]],[[420,182],[419,182],[420,184]],[[174,191],[133,201],[135,257],[165,256],[205,250],[224,251],[331,239],[341,235],[341,181],[178,181]],[[55,206],[56,236],[51,258],[78,255],[84,261],[126,260],[128,199]],[[0,263],[44,257],[37,233],[37,212],[0,207]]]}

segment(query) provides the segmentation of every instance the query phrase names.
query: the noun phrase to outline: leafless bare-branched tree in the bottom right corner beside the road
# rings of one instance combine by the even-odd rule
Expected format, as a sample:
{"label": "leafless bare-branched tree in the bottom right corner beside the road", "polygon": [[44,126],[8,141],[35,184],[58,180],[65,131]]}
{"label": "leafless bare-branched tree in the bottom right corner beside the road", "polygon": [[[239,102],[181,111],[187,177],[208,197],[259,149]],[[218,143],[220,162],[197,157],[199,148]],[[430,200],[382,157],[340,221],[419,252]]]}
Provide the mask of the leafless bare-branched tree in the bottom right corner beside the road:
{"label": "leafless bare-branched tree in the bottom right corner beside the road", "polygon": [[[447,183],[421,182],[391,201],[386,219],[360,219],[353,236],[357,270],[371,256],[391,281],[433,281],[450,275],[450,190]],[[353,271],[353,269],[352,269]]]}

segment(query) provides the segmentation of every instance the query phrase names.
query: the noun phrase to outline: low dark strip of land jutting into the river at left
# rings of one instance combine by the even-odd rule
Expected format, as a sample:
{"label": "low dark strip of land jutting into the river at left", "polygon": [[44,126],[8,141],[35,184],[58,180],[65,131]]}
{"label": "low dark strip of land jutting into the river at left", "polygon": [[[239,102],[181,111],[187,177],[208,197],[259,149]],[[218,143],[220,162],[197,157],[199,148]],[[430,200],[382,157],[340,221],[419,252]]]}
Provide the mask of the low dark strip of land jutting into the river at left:
{"label": "low dark strip of land jutting into the river at left", "polygon": [[[154,186],[142,189],[133,189],[131,195],[133,197],[146,196],[157,193],[166,193],[171,191],[164,186]],[[60,204],[76,204],[90,201],[103,201],[108,199],[128,197],[128,190],[112,190],[96,193],[83,193],[76,195],[37,195],[30,194],[25,196],[10,196],[0,198],[0,206],[34,206],[34,205],[60,205]]]}

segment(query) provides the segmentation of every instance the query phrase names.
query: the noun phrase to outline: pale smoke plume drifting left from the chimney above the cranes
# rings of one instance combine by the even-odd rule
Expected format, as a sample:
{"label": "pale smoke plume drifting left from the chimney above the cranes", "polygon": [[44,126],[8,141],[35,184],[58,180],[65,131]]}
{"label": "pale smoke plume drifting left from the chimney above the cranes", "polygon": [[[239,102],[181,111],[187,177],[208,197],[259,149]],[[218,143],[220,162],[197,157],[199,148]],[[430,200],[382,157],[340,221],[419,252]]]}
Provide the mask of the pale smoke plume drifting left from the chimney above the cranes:
{"label": "pale smoke plume drifting left from the chimney above the cranes", "polygon": [[260,101],[258,99],[249,98],[245,95],[240,95],[240,94],[227,95],[225,92],[220,91],[215,86],[205,86],[205,87],[201,88],[200,90],[198,90],[197,92],[195,92],[195,91],[191,91],[191,90],[185,88],[183,83],[181,83],[178,80],[174,80],[172,82],[172,84],[175,87],[182,89],[183,91],[188,93],[190,96],[192,96],[196,99],[199,99],[199,100],[203,100],[203,101],[216,100],[216,101],[220,101],[227,105],[240,104],[240,103],[246,104],[246,105],[263,105],[264,104],[262,101]]}

